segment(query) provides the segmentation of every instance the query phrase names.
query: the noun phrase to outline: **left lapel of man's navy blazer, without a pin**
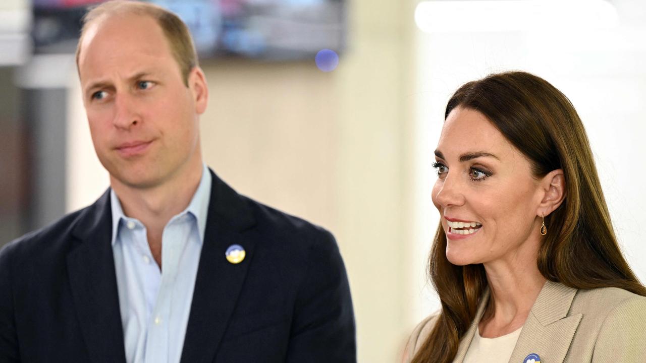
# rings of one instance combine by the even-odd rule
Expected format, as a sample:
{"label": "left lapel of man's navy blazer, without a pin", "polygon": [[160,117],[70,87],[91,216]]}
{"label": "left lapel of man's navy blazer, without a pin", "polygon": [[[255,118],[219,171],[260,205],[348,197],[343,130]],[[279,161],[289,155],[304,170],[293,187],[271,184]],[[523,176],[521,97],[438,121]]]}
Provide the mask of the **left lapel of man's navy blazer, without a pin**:
{"label": "left lapel of man's navy blazer, without a pin", "polygon": [[125,363],[111,224],[108,190],[79,217],[72,231],[79,244],[67,255],[67,271],[90,360]]}

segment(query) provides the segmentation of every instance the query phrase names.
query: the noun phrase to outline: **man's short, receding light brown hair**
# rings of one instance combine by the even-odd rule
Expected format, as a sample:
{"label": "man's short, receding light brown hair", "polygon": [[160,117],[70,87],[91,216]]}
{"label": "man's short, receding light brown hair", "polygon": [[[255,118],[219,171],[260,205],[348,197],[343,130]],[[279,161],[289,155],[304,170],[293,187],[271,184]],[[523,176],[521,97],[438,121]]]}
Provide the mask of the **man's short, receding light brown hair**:
{"label": "man's short, receding light brown hair", "polygon": [[[149,16],[157,22],[171,47],[172,56],[180,66],[184,84],[188,87],[189,73],[191,73],[194,67],[198,67],[198,56],[193,45],[193,39],[191,39],[189,28],[176,14],[151,3],[112,0],[92,8],[85,14],[81,21],[83,27],[81,28],[79,43],[76,46],[76,66],[78,67],[79,65],[79,54],[81,53],[83,36],[92,23],[105,17],[123,16],[126,14]],[[133,34],[133,36],[136,36],[136,34]]]}

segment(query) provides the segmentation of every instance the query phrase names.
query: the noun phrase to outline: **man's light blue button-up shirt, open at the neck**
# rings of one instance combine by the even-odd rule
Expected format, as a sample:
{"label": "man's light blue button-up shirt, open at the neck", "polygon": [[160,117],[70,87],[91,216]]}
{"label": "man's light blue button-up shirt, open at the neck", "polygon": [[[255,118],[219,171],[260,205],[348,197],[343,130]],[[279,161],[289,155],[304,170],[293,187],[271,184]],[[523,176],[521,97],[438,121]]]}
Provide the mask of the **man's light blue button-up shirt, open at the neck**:
{"label": "man's light blue button-up shirt, open at the neck", "polygon": [[112,253],[129,363],[180,362],[210,197],[211,173],[203,165],[191,203],[163,229],[160,271],[146,227],[125,216],[115,192],[110,192]]}

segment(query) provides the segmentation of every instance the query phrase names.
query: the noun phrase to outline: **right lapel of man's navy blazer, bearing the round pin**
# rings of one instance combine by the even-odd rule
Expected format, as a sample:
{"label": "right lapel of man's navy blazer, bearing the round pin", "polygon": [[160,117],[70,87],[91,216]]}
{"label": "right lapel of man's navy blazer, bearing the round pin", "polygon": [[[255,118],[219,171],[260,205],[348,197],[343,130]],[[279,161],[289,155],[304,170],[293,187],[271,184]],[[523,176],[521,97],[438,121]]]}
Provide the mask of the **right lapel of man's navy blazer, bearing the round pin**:
{"label": "right lapel of man's navy blazer, bearing the round pin", "polygon": [[[213,360],[242,291],[255,247],[253,211],[213,171],[211,176],[211,200],[182,363]],[[245,259],[239,264],[231,264],[225,258],[227,248],[233,244],[245,249]]]}

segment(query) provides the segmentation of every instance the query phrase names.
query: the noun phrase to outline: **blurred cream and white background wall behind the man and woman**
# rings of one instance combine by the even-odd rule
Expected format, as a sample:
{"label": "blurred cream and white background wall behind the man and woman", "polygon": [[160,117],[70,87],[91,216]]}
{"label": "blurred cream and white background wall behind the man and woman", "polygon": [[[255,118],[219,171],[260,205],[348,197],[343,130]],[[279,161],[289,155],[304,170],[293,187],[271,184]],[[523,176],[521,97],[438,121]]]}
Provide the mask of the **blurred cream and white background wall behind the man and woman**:
{"label": "blurred cream and white background wall behind the man and woman", "polygon": [[[347,47],[331,72],[314,59],[202,62],[210,92],[201,121],[205,160],[238,192],[335,234],[359,362],[397,361],[415,323],[439,306],[425,271],[438,222],[432,151],[450,94],[489,72],[530,70],[572,99],[621,244],[646,280],[636,228],[646,218],[639,41],[646,5],[592,1],[610,8],[590,12],[590,2],[553,1],[574,8],[547,7],[532,23],[523,17],[535,11],[518,2],[348,1]],[[14,12],[29,5],[9,3]],[[429,12],[437,3],[444,7]],[[584,22],[566,26],[571,16]],[[0,62],[0,244],[92,203],[109,185],[73,56],[14,58]]]}

